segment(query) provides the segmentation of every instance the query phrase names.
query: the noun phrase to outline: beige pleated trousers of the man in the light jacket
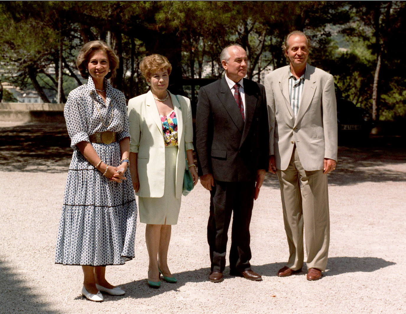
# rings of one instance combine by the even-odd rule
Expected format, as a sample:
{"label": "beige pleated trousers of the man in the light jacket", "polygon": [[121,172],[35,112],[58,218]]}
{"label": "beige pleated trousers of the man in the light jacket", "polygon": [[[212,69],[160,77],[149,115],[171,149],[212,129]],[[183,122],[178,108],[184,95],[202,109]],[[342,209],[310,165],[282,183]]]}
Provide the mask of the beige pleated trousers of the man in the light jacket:
{"label": "beige pleated trousers of the man in the light jacket", "polygon": [[327,175],[323,170],[305,171],[294,148],[286,170],[277,170],[281,187],[283,221],[289,244],[287,267],[302,268],[303,227],[307,268],[326,270],[330,242]]}

